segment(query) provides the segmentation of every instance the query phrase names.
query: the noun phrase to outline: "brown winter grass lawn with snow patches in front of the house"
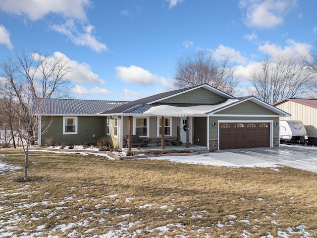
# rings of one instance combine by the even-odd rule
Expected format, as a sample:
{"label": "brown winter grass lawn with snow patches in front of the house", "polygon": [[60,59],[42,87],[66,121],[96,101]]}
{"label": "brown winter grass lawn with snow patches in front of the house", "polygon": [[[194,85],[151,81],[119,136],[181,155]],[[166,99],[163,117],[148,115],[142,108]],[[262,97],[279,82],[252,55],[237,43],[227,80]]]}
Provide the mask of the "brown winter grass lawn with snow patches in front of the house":
{"label": "brown winter grass lawn with snow patches in front of the house", "polygon": [[317,236],[317,174],[302,170],[31,151],[23,175],[0,174],[0,237]]}

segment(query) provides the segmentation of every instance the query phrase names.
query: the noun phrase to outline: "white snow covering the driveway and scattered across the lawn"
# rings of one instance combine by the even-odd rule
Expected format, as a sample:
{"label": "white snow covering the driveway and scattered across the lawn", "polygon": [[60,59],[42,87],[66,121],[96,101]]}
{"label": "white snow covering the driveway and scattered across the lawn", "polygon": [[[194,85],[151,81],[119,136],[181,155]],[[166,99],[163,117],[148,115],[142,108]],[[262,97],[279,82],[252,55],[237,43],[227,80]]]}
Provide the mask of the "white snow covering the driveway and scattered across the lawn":
{"label": "white snow covering the driveway and scattered across the lawn", "polygon": [[[76,149],[83,149],[83,148],[82,147],[75,147],[75,150]],[[239,167],[268,167],[268,168],[272,168],[273,170],[276,170],[276,171],[278,171],[278,167],[281,164],[282,165],[287,165],[287,164],[292,165],[292,160],[289,159],[291,153],[292,154],[295,153],[296,163],[304,164],[307,168],[310,168],[312,166],[312,165],[310,165],[310,163],[314,163],[314,162],[316,163],[316,161],[317,161],[317,148],[316,147],[315,148],[314,147],[306,147],[306,148],[297,147],[294,150],[294,152],[290,152],[288,149],[289,148],[287,146],[282,147],[281,149],[267,148],[267,153],[265,154],[265,156],[263,153],[261,154],[260,152],[253,151],[253,150],[241,150],[241,153],[237,153],[235,151],[224,151],[224,152],[219,152],[219,153],[213,152],[213,153],[194,155],[194,156],[162,156],[162,157],[154,157],[151,159],[169,160],[171,162],[177,162],[177,163],[212,165],[212,166],[227,166],[227,167],[235,167],[235,168],[239,168]],[[105,154],[94,153],[94,150],[96,150],[96,148],[91,148],[91,150],[92,150],[92,152],[90,152],[90,153],[80,152],[80,154],[83,154],[83,155],[95,154],[96,156],[106,156]],[[52,151],[48,151],[48,152],[52,153]],[[54,152],[54,153],[78,153],[78,152],[74,151],[74,152]],[[264,151],[264,153],[265,153],[265,151]],[[299,156],[300,154],[302,154],[301,157]],[[305,161],[305,159],[307,159],[307,157],[309,157],[308,158],[310,160],[309,163],[307,163],[307,161]],[[2,158],[4,158],[4,156],[0,154],[0,175],[5,173],[5,172],[8,172],[8,171],[14,172],[15,170],[21,169],[20,167],[17,167],[17,166],[8,165],[7,163],[2,161]],[[275,161],[274,161],[274,158],[275,158]],[[291,162],[289,162],[289,161],[291,161]],[[14,191],[14,193],[24,194],[29,189],[31,189],[31,188],[26,184],[25,186],[23,186],[22,189],[18,189],[16,191]],[[0,187],[0,190],[1,190],[1,187]],[[4,194],[1,194],[1,196],[2,195],[4,195]],[[107,196],[105,196],[105,200],[111,199],[111,198],[117,197],[117,196],[119,196],[119,194],[107,195]],[[43,201],[43,204],[45,202],[49,202],[49,203],[54,202],[54,203],[56,203],[55,209],[63,209],[66,212],[67,209],[69,209],[69,207],[70,207],[67,205],[70,205],[69,203],[72,203],[73,201],[76,201],[76,200],[79,201],[78,199],[79,198],[77,198],[76,195],[73,194],[73,196],[64,197],[64,199],[62,201]],[[133,199],[139,199],[139,198],[136,198],[135,196],[127,197],[127,198],[125,198],[125,202],[130,202]],[[243,198],[241,198],[241,199],[243,199]],[[261,201],[262,198],[259,197],[258,200]],[[36,206],[36,205],[37,204],[27,204],[25,202],[25,204],[22,204],[21,206],[23,206],[23,208],[26,208],[26,207],[32,208],[32,206]],[[60,206],[60,205],[64,205],[64,206]],[[139,206],[139,207],[131,207],[131,209],[136,209],[136,208],[137,209],[149,209],[155,205],[157,205],[157,204],[145,204],[145,205]],[[171,209],[170,209],[170,207],[168,207],[169,205],[162,205],[162,206],[160,206],[160,209],[165,209],[166,212],[170,212]],[[21,216],[21,214],[18,211],[19,208],[20,207],[16,207],[16,209],[12,210],[10,213],[1,215],[2,218],[4,216],[4,217],[6,217],[7,220],[5,222],[2,221],[4,223],[2,225],[0,225],[0,238],[16,237],[16,236],[14,236],[14,233],[13,233],[15,221],[17,219],[23,219],[23,217]],[[116,209],[120,209],[120,208],[116,208]],[[0,207],[0,210],[1,210],[1,207]],[[178,210],[179,212],[182,212],[181,208],[176,208],[176,210]],[[33,233],[32,235],[25,234],[24,237],[25,238],[36,238],[36,237],[47,236],[47,237],[55,238],[56,236],[51,235],[54,231],[63,231],[63,232],[65,232],[65,236],[67,235],[67,237],[69,237],[69,238],[79,237],[80,234],[78,234],[78,232],[76,231],[76,228],[87,227],[88,224],[91,222],[92,217],[99,217],[100,214],[110,214],[110,213],[114,214],[113,211],[111,211],[108,208],[105,208],[105,204],[104,205],[98,204],[95,206],[95,214],[93,214],[94,216],[92,215],[86,219],[79,219],[78,222],[75,222],[75,223],[61,224],[61,225],[58,225],[56,227],[51,228],[50,230],[48,230],[46,225],[40,225],[40,226],[38,226],[35,233]],[[204,217],[206,215],[206,213],[208,213],[208,211],[205,211],[205,210],[204,211],[192,211],[191,213],[192,213],[191,215],[193,217],[199,218],[199,217]],[[51,214],[43,214],[43,216],[46,216],[47,218],[52,217],[52,216],[54,216],[54,212],[52,212]],[[127,213],[127,214],[120,215],[120,217],[127,217],[127,216],[133,216],[133,214]],[[182,216],[182,213],[180,213],[179,216]],[[272,216],[274,216],[274,214],[272,214]],[[248,217],[237,219],[237,216],[233,215],[233,214],[226,215],[226,217],[230,219],[229,222],[222,224],[220,221],[218,221],[217,224],[211,224],[211,227],[206,227],[206,228],[201,229],[199,231],[193,230],[192,235],[194,237],[199,236],[203,232],[205,234],[205,237],[211,237],[211,233],[209,231],[211,231],[212,229],[216,229],[216,230],[226,229],[226,227],[227,228],[231,227],[235,223],[246,223],[246,224],[250,223],[250,221],[248,220]],[[115,219],[115,217],[113,217],[113,219]],[[270,219],[271,223],[275,222],[275,220],[273,218],[267,217],[267,219]],[[102,222],[102,221],[100,221],[100,222]],[[121,222],[121,223],[117,224],[116,226],[113,226],[106,234],[103,234],[100,236],[94,236],[94,238],[127,237],[127,234],[129,234],[128,235],[129,237],[140,237],[144,234],[144,232],[147,232],[149,237],[152,237],[151,233],[155,234],[155,237],[157,237],[157,236],[166,237],[166,235],[165,235],[166,232],[171,231],[171,230],[175,230],[176,228],[178,228],[181,231],[182,229],[185,228],[185,225],[186,225],[186,224],[179,224],[179,223],[167,224],[165,226],[159,226],[159,227],[156,227],[153,229],[148,229],[147,231],[143,231],[141,229],[135,229],[133,234],[129,233],[129,228],[131,228],[131,227],[137,228],[138,226],[140,226],[140,224],[142,224],[142,222],[143,221],[141,221],[141,220],[134,221],[131,223]],[[259,223],[259,226],[260,226],[260,223]],[[89,233],[92,230],[94,230],[94,229],[88,229],[85,233]],[[287,231],[279,230],[277,233],[278,233],[278,237],[283,237],[283,238],[288,238],[290,236],[298,236],[298,237],[303,237],[303,238],[311,237],[310,233],[308,231],[306,231],[306,227],[304,224],[299,224],[296,227],[289,227],[289,228],[287,228]],[[84,235],[84,234],[82,234],[82,235]],[[251,234],[248,231],[243,230],[243,232],[240,234],[240,237],[247,238],[250,235]],[[191,236],[180,235],[178,237],[185,238],[185,237],[191,237]],[[267,234],[267,236],[262,236],[261,238],[273,238],[273,236],[271,236],[270,234]]]}

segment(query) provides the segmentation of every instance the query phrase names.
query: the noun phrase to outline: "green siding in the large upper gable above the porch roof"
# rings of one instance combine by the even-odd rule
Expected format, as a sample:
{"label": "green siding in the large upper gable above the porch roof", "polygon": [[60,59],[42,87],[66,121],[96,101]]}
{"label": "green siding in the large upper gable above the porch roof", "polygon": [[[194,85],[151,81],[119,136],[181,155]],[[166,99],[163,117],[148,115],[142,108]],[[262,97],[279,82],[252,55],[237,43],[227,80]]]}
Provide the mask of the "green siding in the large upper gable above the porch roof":
{"label": "green siding in the large upper gable above the porch roof", "polygon": [[205,88],[198,88],[187,93],[160,101],[160,103],[206,103],[214,104],[226,100]]}

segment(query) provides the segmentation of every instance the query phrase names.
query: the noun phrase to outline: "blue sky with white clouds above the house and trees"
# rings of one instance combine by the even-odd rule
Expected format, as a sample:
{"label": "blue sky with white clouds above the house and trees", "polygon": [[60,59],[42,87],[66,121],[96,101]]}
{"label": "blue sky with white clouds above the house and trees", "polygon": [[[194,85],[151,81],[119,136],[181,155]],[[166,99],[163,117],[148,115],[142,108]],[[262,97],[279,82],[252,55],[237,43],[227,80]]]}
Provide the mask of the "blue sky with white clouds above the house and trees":
{"label": "blue sky with white clouds above the house and trees", "polygon": [[199,50],[230,54],[242,94],[267,54],[309,54],[316,0],[0,0],[0,60],[64,56],[74,99],[136,100],[174,89]]}

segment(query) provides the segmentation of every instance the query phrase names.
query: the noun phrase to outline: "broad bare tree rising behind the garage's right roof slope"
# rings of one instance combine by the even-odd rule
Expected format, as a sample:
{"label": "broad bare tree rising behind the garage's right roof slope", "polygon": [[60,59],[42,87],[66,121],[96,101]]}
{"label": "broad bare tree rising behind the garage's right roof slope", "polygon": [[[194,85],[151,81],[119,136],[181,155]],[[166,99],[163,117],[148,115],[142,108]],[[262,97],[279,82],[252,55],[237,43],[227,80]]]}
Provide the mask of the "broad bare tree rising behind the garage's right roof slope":
{"label": "broad bare tree rising behind the garage's right roof slope", "polygon": [[306,95],[312,73],[298,56],[268,56],[250,73],[249,92],[268,104]]}

